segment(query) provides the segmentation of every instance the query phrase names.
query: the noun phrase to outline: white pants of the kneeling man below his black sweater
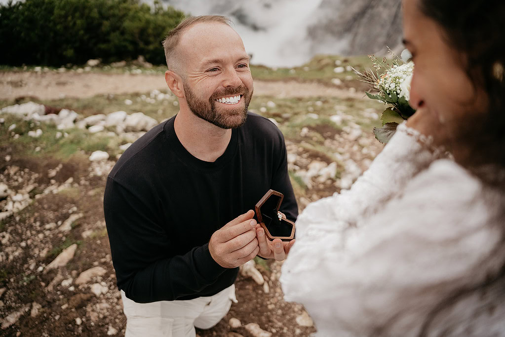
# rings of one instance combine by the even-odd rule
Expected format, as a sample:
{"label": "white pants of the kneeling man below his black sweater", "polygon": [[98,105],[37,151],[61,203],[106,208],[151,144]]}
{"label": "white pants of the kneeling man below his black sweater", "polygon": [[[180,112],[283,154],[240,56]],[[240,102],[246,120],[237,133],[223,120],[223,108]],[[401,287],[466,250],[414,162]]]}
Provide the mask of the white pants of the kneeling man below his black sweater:
{"label": "white pants of the kneeling man below his black sweater", "polygon": [[136,303],[121,291],[126,315],[125,337],[195,337],[194,327],[209,329],[237,303],[235,285],[214,296],[185,301]]}

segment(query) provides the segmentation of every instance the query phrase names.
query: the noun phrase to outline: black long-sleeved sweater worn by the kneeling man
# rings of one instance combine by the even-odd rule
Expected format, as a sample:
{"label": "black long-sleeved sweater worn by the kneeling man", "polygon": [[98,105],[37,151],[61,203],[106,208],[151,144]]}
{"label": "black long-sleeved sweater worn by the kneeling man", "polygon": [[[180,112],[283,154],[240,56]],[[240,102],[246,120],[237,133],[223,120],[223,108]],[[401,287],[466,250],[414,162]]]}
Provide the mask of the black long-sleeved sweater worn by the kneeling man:
{"label": "black long-sleeved sweater worn by the kneeling man", "polygon": [[138,303],[212,296],[235,282],[209,253],[212,234],[253,209],[269,190],[295,220],[284,138],[256,114],[232,130],[222,156],[199,160],[180,143],[172,118],[119,158],[107,179],[105,219],[117,283]]}

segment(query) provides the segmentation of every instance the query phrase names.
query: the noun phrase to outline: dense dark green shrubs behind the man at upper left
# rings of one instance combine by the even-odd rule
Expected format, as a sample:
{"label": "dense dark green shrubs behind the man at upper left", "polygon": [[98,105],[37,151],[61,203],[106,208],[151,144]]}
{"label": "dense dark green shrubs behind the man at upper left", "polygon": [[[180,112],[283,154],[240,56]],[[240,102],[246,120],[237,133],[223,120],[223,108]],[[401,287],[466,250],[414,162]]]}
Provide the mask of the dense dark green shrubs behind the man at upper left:
{"label": "dense dark green shrubs behind the man at upper left", "polygon": [[138,0],[26,0],[0,5],[0,64],[165,63],[161,41],[184,14]]}

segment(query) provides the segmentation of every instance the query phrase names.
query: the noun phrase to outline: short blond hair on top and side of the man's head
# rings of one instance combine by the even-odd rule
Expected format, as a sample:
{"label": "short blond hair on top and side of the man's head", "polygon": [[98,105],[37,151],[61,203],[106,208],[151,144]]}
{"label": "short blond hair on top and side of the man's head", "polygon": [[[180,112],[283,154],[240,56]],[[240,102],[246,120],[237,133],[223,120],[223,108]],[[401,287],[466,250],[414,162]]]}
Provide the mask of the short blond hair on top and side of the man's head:
{"label": "short blond hair on top and side of the man's head", "polygon": [[182,32],[188,29],[190,26],[195,25],[197,23],[211,23],[211,22],[224,23],[225,25],[228,25],[230,27],[233,24],[233,22],[229,18],[221,15],[193,16],[181,21],[174,29],[172,29],[167,34],[162,44],[163,48],[165,49],[165,59],[167,61],[167,67],[169,70],[173,71],[174,68],[177,68],[175,66],[176,64],[175,48],[179,43]]}

